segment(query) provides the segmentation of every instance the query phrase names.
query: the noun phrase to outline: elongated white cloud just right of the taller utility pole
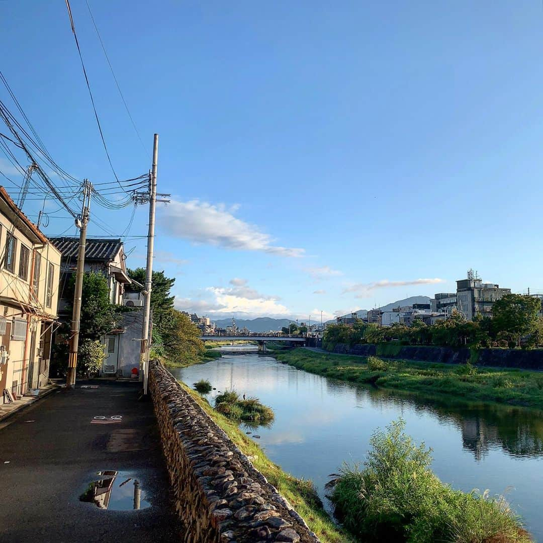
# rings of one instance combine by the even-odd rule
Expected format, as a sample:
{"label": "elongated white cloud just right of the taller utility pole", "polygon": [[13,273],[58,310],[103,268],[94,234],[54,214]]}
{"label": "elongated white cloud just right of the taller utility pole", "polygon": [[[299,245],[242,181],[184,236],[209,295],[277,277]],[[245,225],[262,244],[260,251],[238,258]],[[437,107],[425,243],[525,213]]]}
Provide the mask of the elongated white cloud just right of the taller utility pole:
{"label": "elongated white cloud just right of the taller utility pole", "polygon": [[237,210],[238,206],[227,209],[224,204],[213,205],[200,200],[172,200],[161,210],[159,223],[169,235],[189,239],[193,243],[288,257],[304,255],[304,249],[272,245],[273,239],[269,234],[235,217]]}

